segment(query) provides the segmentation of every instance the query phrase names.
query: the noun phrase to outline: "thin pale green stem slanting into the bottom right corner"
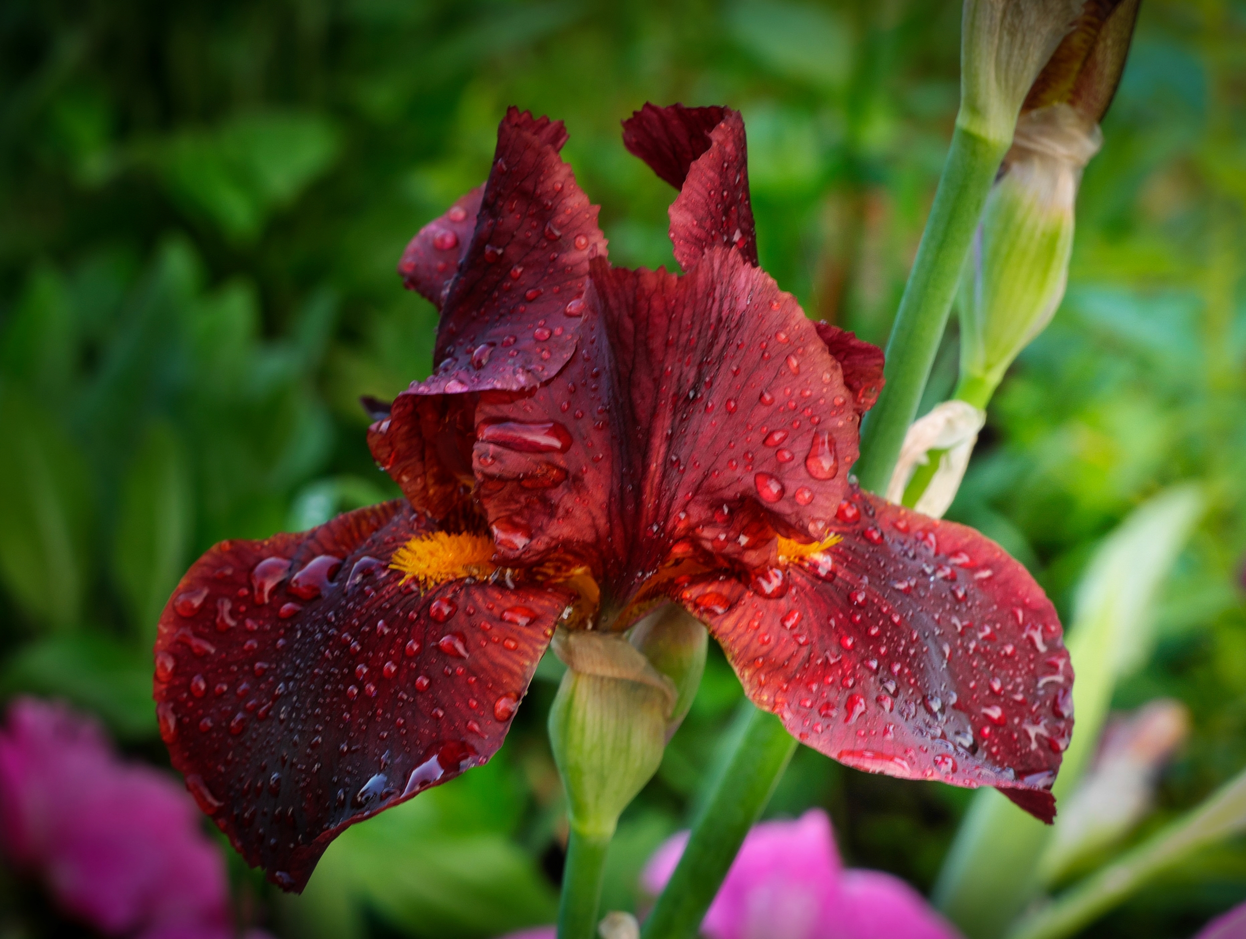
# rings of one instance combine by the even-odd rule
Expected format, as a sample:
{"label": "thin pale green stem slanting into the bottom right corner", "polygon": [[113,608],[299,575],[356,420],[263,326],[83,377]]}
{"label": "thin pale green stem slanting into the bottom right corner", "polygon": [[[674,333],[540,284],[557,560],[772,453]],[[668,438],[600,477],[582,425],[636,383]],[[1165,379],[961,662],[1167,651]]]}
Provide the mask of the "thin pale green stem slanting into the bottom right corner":
{"label": "thin pale green stem slanting into the bottom right corner", "polygon": [[1200,848],[1246,829],[1246,772],[1206,802],[1179,818],[1118,861],[1020,920],[1008,939],[1063,939],[1080,932],[1153,877],[1169,871]]}

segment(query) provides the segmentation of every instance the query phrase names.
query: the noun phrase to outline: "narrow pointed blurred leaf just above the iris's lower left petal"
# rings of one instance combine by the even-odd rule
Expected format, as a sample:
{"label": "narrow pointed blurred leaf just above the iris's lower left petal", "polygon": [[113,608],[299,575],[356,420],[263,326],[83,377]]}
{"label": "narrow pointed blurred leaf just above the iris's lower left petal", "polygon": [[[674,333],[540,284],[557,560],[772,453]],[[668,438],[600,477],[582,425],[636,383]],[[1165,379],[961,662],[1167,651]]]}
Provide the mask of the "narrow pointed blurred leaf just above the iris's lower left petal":
{"label": "narrow pointed blurred leaf just above the iris's lower left petal", "polygon": [[150,645],[169,593],[186,570],[194,504],[181,440],[159,421],[147,428],[121,492],[112,572]]}

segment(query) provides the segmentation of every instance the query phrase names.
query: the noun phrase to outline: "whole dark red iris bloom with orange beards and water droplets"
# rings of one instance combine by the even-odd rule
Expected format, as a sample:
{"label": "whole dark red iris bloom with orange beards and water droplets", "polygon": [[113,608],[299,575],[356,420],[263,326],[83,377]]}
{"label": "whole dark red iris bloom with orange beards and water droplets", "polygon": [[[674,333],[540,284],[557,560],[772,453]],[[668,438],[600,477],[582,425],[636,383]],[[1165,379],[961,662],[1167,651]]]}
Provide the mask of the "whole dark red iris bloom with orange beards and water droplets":
{"label": "whole dark red iris bloom with orange beards and water droplets", "polygon": [[809,746],[1050,819],[1055,610],[993,542],[854,484],[882,352],[758,267],[740,116],[624,122],[679,189],[678,275],[611,267],[566,138],[512,108],[402,255],[441,310],[432,377],[370,403],[406,499],[223,542],[164,610],[159,725],[199,805],[299,889],[343,828],[488,760],[556,626],[674,602]]}

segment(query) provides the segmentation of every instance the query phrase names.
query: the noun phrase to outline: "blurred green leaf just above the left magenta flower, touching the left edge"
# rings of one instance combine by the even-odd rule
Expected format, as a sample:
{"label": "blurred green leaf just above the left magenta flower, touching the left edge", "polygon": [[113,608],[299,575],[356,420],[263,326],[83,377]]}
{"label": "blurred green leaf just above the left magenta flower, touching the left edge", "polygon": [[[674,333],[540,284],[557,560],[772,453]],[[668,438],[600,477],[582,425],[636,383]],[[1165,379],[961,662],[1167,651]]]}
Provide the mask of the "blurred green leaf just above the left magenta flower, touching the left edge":
{"label": "blurred green leaf just above the left magenta flower, touching the left edge", "polygon": [[0,671],[0,695],[61,697],[98,715],[121,740],[156,735],[151,651],[97,633],[24,646]]}

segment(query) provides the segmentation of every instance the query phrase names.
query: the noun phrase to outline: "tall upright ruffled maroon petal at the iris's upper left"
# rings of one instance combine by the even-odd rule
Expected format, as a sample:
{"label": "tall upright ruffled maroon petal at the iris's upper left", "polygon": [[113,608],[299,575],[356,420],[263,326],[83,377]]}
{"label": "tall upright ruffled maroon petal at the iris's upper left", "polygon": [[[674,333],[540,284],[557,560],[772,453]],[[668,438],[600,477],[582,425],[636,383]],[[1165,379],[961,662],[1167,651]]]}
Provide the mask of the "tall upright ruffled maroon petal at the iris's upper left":
{"label": "tall upright ruffled maroon petal at the iris's upper left", "polygon": [[437,367],[414,392],[532,389],[571,357],[588,263],[606,257],[606,238],[558,157],[566,139],[558,121],[513,107],[502,120],[471,244],[441,310]]}

